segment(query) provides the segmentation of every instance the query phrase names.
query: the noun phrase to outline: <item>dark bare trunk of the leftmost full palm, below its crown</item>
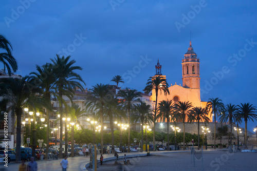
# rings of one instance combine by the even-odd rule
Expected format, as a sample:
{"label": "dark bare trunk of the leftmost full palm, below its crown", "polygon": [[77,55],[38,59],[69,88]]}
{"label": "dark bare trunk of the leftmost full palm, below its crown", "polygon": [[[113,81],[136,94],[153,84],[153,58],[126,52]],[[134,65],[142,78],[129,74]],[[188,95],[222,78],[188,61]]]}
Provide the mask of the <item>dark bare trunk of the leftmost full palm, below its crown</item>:
{"label": "dark bare trunk of the leftmost full palm, below its crown", "polygon": [[21,125],[22,125],[22,109],[16,111],[17,130],[16,130],[16,163],[21,162]]}

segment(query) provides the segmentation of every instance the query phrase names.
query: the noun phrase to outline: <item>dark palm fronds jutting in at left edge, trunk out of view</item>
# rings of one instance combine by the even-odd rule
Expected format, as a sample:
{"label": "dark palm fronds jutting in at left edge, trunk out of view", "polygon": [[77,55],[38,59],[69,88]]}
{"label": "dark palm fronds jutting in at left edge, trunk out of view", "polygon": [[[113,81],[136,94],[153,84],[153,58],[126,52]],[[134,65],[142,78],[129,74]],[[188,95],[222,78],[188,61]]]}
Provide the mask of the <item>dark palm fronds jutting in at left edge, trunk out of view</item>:
{"label": "dark palm fronds jutting in at left edge, trunk out of view", "polygon": [[13,72],[16,72],[18,69],[17,62],[15,58],[12,56],[12,46],[7,39],[3,35],[0,34],[0,49],[3,49],[4,53],[0,53],[0,62],[4,64],[4,72],[7,68],[8,74],[11,75],[11,69]]}

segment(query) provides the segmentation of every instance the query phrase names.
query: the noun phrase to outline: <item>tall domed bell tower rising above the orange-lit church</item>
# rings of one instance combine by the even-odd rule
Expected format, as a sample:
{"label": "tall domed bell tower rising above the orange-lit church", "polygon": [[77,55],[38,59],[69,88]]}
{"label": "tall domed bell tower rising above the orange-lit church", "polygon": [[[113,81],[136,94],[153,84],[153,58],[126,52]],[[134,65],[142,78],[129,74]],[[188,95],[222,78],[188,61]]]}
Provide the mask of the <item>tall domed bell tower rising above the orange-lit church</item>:
{"label": "tall domed bell tower rising above the orange-lit church", "polygon": [[182,59],[182,82],[185,88],[200,89],[200,62],[190,40],[187,53]]}

